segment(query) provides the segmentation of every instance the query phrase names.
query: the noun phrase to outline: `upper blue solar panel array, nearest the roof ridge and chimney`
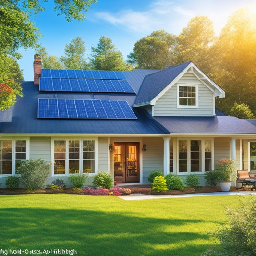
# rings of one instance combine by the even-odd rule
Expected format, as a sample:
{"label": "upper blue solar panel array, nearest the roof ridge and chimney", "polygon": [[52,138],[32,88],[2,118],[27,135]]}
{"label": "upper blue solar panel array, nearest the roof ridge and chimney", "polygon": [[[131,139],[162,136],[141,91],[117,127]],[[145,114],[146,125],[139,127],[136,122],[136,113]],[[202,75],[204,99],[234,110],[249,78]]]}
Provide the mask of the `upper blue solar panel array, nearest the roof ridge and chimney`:
{"label": "upper blue solar panel array, nearest the roof ridge and chimney", "polygon": [[122,71],[42,69],[40,91],[134,93]]}

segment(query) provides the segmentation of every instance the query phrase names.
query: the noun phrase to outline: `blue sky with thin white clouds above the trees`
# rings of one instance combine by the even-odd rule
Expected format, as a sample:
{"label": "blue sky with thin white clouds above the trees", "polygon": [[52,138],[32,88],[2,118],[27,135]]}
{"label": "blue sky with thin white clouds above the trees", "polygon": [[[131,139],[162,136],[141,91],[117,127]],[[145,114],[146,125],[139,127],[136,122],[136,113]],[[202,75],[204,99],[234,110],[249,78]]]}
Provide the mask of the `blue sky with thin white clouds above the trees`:
{"label": "blue sky with thin white clouds above the trees", "polygon": [[[32,17],[43,37],[42,46],[49,55],[64,55],[65,45],[74,37],[85,41],[85,57],[90,57],[91,46],[97,46],[101,36],[109,37],[124,60],[134,44],[153,31],[164,29],[179,35],[189,20],[196,15],[208,16],[215,33],[227,23],[228,17],[242,7],[256,12],[256,0],[98,0],[87,12],[84,21],[67,22],[53,11],[52,0],[45,4],[45,12]],[[33,80],[33,49],[20,49],[19,60],[25,81]]]}

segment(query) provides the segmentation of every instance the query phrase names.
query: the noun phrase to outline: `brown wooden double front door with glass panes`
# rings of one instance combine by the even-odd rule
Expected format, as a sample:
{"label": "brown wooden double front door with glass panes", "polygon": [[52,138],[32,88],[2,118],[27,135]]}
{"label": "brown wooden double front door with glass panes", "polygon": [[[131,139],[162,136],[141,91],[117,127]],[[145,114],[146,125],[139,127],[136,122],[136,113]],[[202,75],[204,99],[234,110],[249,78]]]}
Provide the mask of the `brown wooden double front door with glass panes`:
{"label": "brown wooden double front door with glass panes", "polygon": [[114,143],[114,180],[118,183],[139,182],[139,142]]}

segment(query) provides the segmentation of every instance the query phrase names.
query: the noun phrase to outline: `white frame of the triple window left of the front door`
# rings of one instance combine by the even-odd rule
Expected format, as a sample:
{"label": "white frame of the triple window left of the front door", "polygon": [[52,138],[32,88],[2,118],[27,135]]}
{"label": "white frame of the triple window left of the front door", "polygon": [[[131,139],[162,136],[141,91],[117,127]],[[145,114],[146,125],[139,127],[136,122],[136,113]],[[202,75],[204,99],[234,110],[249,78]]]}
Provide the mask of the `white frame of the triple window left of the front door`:
{"label": "white frame of the triple window left of the front door", "polygon": [[[55,140],[64,140],[66,142],[66,158],[65,158],[65,174],[54,174],[54,141]],[[96,137],[54,137],[51,138],[51,176],[52,177],[66,177],[69,175],[75,175],[75,173],[69,173],[69,141],[70,140],[79,140],[79,174],[83,174],[83,141],[84,140],[93,140],[94,141],[94,172],[89,173],[89,176],[94,176],[98,173],[98,138]]]}

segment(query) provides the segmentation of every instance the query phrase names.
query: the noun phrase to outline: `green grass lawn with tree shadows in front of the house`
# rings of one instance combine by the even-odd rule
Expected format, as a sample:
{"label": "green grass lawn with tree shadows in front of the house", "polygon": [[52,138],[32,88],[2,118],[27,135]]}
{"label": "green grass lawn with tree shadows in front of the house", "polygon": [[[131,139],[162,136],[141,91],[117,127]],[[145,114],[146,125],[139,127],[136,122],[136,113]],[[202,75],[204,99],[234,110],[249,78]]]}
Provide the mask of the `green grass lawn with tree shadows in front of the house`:
{"label": "green grass lawn with tree shadows in front of the house", "polygon": [[214,245],[208,232],[225,222],[225,208],[247,198],[125,201],[116,196],[1,195],[0,249],[49,250],[49,255],[57,255],[53,249],[67,249],[78,256],[199,256]]}

